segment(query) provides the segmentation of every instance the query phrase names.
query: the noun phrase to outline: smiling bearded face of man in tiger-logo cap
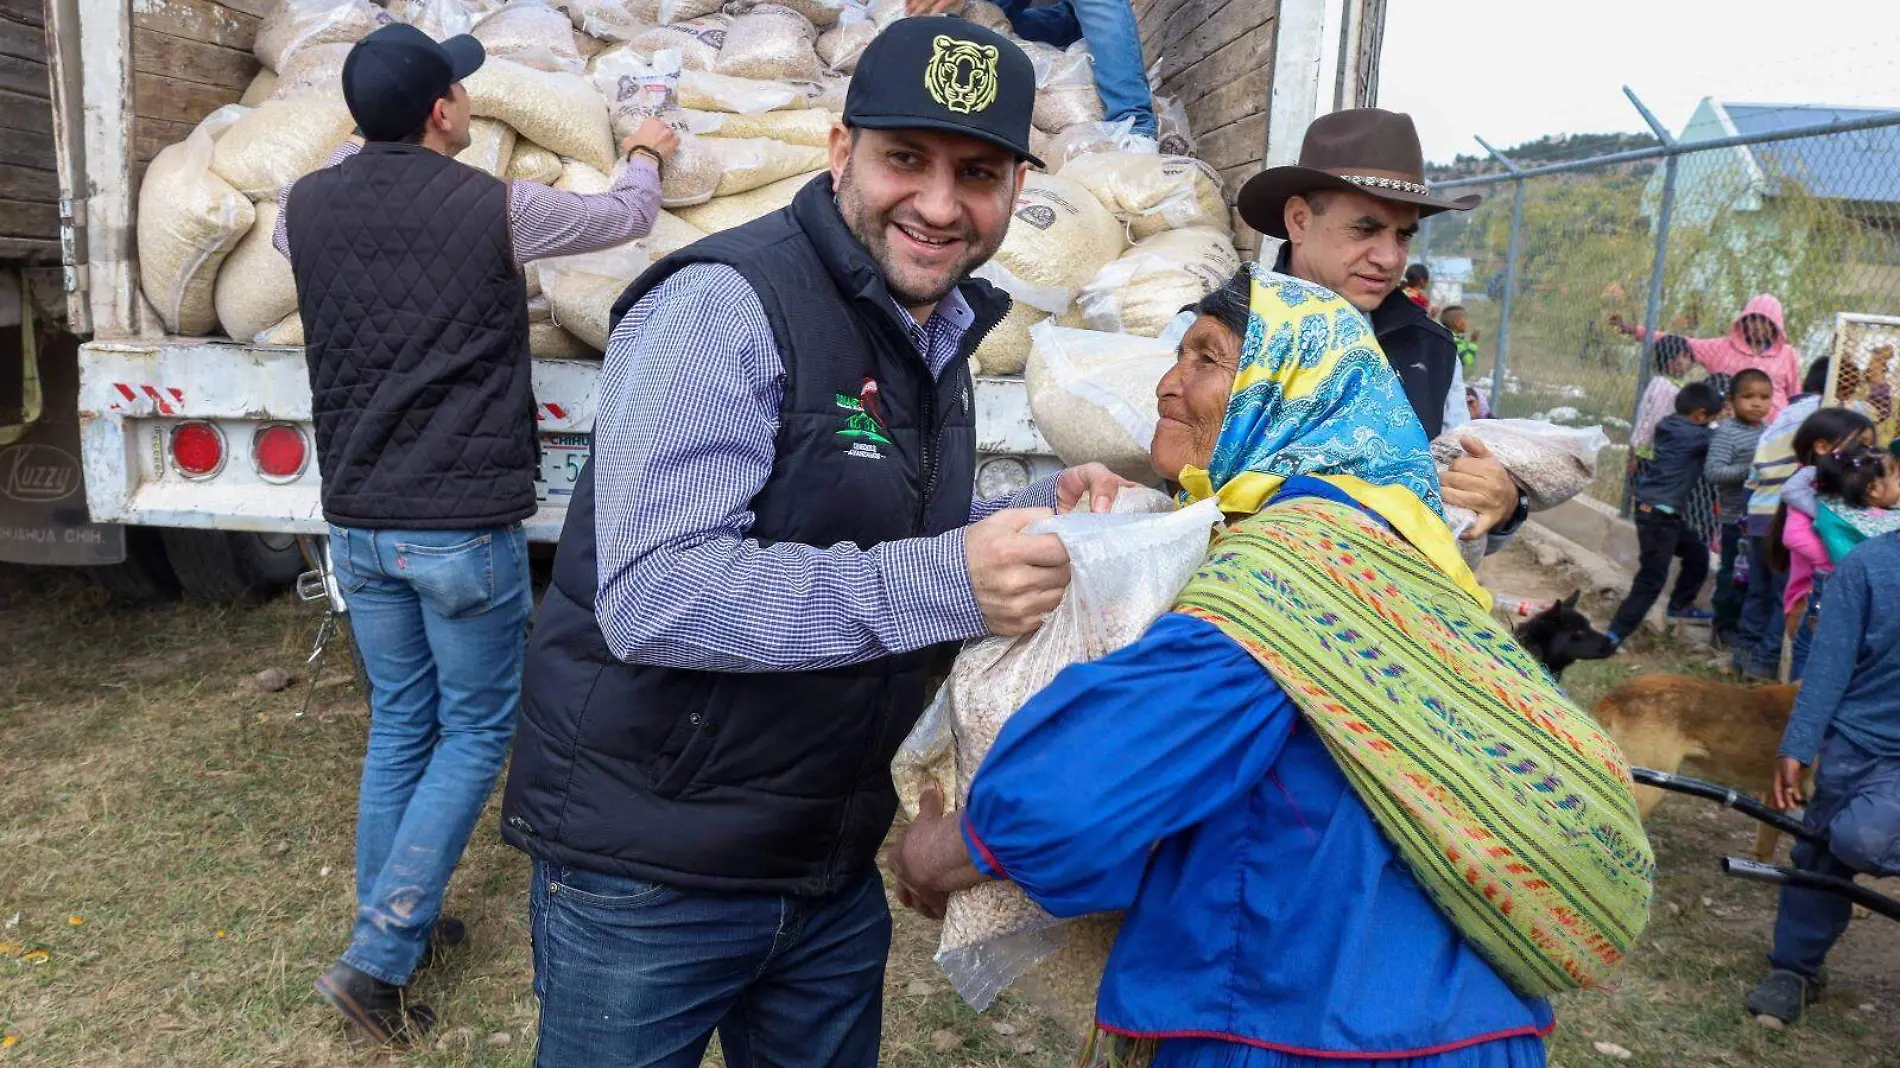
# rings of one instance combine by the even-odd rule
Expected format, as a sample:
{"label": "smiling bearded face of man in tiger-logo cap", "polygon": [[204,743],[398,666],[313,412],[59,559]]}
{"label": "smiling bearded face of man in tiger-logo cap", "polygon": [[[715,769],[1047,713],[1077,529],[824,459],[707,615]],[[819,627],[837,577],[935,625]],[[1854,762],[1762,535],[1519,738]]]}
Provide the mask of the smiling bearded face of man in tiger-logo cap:
{"label": "smiling bearded face of man in tiger-logo cap", "polygon": [[1005,148],[925,129],[832,129],[846,226],[920,321],[1001,247],[1026,171]]}

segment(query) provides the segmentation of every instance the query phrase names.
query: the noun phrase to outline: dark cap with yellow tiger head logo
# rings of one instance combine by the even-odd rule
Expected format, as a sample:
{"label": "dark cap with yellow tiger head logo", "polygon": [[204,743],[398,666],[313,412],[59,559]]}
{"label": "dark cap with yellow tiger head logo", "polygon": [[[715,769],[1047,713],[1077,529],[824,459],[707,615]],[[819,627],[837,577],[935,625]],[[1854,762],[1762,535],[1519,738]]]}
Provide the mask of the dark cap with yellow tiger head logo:
{"label": "dark cap with yellow tiger head logo", "polygon": [[844,101],[863,129],[939,129],[1030,152],[1036,67],[1003,34],[952,15],[899,19],[864,48]]}

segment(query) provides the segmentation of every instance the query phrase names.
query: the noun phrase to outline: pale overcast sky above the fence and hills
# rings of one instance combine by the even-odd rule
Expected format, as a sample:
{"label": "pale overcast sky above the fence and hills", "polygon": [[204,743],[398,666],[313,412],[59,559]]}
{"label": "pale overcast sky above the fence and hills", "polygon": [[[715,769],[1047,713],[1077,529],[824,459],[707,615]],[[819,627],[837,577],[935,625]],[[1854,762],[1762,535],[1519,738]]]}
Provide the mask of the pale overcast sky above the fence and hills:
{"label": "pale overcast sky above the fence and hills", "polygon": [[[1379,106],[1425,158],[1545,133],[1670,131],[1702,97],[1900,108],[1900,0],[1391,0]],[[1334,38],[1336,40],[1336,38]],[[1332,76],[1326,72],[1326,99]]]}

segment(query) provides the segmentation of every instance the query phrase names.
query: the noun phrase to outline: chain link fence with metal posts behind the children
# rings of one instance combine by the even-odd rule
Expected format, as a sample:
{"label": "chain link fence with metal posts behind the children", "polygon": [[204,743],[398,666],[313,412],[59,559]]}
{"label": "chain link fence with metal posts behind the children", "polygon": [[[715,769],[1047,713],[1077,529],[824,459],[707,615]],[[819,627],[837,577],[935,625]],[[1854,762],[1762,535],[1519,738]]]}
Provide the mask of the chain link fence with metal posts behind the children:
{"label": "chain link fence with metal posts behind the children", "polygon": [[1600,424],[1613,445],[1590,494],[1623,505],[1655,372],[1636,338],[1725,336],[1769,293],[1801,352],[1796,376],[1847,346],[1830,397],[1870,407],[1890,437],[1900,329],[1881,319],[1900,315],[1900,112],[1704,101],[1674,139],[1636,106],[1659,146],[1541,167],[1492,150],[1503,173],[1433,182],[1486,194],[1429,219],[1416,247],[1434,300],[1467,310],[1480,348],[1467,380],[1492,412]]}

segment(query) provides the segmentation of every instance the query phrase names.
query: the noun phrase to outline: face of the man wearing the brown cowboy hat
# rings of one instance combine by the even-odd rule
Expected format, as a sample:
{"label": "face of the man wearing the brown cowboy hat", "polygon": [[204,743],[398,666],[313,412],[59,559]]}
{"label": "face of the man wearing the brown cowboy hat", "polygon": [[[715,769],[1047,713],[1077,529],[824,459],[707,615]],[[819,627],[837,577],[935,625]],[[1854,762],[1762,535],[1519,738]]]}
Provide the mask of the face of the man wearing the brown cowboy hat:
{"label": "face of the man wearing the brown cowboy hat", "polygon": [[1290,268],[1370,314],[1406,274],[1419,209],[1349,190],[1322,190],[1286,201]]}

